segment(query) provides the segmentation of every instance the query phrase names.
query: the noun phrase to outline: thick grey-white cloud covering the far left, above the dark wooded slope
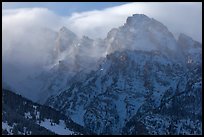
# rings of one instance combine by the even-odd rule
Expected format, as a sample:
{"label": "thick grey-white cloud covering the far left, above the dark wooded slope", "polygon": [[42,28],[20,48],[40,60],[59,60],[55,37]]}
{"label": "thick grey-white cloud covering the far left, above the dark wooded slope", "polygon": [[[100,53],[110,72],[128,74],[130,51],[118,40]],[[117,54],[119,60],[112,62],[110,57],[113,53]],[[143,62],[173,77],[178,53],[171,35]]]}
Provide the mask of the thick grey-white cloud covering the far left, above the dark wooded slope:
{"label": "thick grey-white cloud covering the far left, above the dark wooded slope", "polygon": [[55,43],[55,32],[47,28],[57,27],[60,19],[44,8],[3,10],[3,80],[20,85],[27,76],[42,71]]}

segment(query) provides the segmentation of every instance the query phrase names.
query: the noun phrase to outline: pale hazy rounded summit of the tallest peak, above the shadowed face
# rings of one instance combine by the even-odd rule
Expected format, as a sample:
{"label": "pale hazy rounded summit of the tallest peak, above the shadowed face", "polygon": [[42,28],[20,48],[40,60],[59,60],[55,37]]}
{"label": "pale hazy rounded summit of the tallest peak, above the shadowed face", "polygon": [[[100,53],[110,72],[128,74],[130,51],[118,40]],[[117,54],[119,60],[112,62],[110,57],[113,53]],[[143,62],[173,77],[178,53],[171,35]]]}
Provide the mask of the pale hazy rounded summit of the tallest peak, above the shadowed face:
{"label": "pale hazy rounded summit of the tallest peak, above the shadowed face", "polygon": [[[167,27],[144,14],[134,14],[126,23],[112,30],[106,38],[108,53],[116,50],[159,50],[165,54],[177,51],[177,42]],[[171,53],[169,53],[171,52]]]}

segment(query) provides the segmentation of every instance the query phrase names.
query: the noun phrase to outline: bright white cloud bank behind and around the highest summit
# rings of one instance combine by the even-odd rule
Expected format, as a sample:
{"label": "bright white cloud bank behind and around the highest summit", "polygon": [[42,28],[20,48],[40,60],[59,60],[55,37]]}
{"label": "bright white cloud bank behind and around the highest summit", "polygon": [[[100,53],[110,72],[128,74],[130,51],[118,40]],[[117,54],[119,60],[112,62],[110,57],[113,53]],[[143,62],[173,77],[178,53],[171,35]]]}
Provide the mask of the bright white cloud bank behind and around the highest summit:
{"label": "bright white cloud bank behind and around the highest summit", "polygon": [[73,13],[64,24],[79,35],[104,38],[110,29],[122,26],[127,17],[135,13],[157,19],[176,36],[182,32],[202,42],[201,3],[128,3],[104,10]]}

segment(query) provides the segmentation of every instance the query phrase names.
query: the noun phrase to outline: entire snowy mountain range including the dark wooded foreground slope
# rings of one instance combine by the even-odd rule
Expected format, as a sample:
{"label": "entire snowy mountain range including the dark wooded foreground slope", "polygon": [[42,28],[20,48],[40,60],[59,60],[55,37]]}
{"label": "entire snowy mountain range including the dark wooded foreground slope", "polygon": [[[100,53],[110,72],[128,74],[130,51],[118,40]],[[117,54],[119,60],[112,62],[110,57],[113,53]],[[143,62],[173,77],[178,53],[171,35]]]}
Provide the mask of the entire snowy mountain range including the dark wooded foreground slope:
{"label": "entire snowy mountain range including the dark wooded foreground slope", "polygon": [[202,134],[201,43],[144,14],[105,39],[62,27],[54,40],[42,73],[17,84],[41,105],[3,90],[4,134]]}

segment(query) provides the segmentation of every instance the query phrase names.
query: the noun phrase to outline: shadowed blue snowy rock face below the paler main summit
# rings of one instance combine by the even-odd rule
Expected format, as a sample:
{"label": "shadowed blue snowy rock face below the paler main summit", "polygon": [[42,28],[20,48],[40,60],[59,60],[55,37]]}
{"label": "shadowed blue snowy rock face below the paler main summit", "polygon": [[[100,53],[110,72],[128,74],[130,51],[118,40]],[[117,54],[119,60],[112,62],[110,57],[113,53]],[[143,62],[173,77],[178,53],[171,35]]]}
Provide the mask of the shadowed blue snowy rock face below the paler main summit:
{"label": "shadowed blue snowy rock face below the paler main summit", "polygon": [[98,134],[121,134],[150,97],[152,105],[159,107],[166,90],[176,90],[183,70],[161,53],[115,52],[85,82],[75,82],[47,104]]}

